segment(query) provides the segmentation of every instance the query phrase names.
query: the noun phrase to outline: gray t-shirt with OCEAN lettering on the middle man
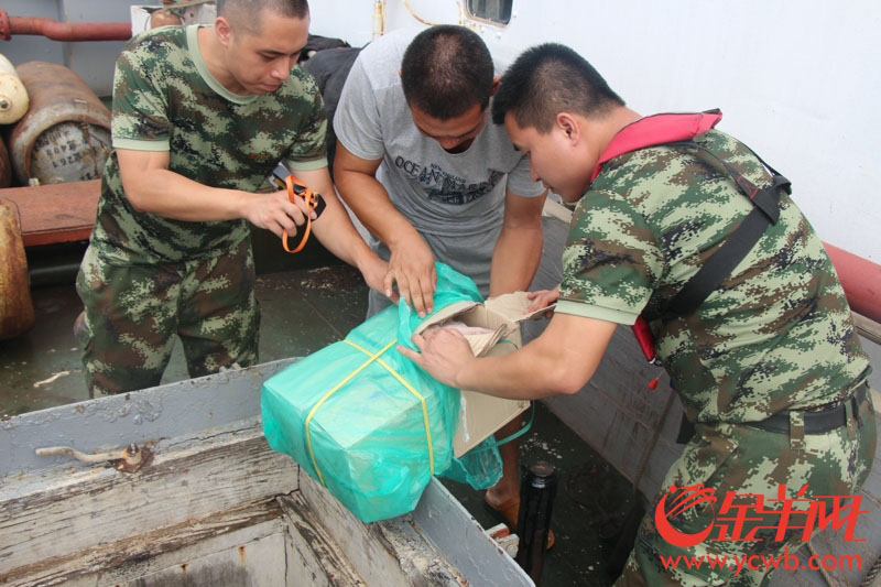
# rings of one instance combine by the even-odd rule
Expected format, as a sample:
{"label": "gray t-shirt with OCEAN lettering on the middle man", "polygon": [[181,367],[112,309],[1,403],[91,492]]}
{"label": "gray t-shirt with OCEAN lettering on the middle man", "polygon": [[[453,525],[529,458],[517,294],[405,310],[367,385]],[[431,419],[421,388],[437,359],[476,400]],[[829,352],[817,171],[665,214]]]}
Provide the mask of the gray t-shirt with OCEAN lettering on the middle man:
{"label": "gray t-shirt with OCEAN lettering on the middle man", "polygon": [[[337,138],[358,157],[382,159],[377,178],[395,208],[424,237],[458,239],[498,232],[505,188],[534,197],[543,186],[530,178],[529,160],[514,150],[504,128],[491,120],[463,153],[448,153],[420,133],[399,75],[404,51],[417,33],[395,31],[365,47],[337,106]],[[498,63],[496,69],[503,70]],[[492,246],[494,240],[482,254],[487,263]]]}

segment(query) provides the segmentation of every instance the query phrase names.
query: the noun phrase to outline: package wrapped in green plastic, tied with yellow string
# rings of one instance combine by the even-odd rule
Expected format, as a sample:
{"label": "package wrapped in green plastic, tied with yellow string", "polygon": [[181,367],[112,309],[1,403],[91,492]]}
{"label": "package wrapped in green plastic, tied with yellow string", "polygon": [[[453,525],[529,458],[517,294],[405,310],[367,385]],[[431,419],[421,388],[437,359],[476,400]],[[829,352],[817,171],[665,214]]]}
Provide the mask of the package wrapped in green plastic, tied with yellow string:
{"label": "package wrapped in green plastic, tied with yellow string", "polygon": [[[435,312],[482,302],[474,282],[437,263]],[[269,445],[296,460],[362,522],[413,511],[432,475],[476,489],[501,477],[492,439],[453,456],[459,391],[400,355],[422,320],[401,302],[345,340],[291,365],[263,383]]]}

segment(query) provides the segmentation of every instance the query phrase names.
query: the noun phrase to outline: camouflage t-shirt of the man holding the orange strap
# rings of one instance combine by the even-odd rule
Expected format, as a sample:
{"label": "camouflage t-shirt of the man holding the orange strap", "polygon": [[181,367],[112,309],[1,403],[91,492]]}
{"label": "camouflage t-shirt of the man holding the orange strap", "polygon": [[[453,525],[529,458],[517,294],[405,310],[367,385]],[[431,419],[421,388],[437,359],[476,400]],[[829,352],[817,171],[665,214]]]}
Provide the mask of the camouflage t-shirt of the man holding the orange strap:
{"label": "camouflage t-shirt of the man holding the orange strap", "polygon": [[[254,192],[280,161],[327,166],[324,105],[296,67],[272,94],[238,96],[208,72],[197,26],[165,26],[133,39],[117,59],[115,149],[168,151],[168,169],[211,187]],[[191,222],[135,210],[116,151],[107,161],[91,244],[117,263],[213,257],[248,238],[242,219]]]}

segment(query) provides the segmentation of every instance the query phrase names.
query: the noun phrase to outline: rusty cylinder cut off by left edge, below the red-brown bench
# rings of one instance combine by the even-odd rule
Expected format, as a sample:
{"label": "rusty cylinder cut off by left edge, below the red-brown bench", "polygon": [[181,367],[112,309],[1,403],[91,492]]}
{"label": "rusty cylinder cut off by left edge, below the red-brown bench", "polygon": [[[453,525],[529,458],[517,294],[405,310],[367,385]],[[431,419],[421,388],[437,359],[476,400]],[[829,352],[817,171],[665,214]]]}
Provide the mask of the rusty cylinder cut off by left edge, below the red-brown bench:
{"label": "rusty cylinder cut off by left edge, below the red-brown bench", "polygon": [[34,325],[19,208],[8,199],[0,199],[0,340],[6,340]]}

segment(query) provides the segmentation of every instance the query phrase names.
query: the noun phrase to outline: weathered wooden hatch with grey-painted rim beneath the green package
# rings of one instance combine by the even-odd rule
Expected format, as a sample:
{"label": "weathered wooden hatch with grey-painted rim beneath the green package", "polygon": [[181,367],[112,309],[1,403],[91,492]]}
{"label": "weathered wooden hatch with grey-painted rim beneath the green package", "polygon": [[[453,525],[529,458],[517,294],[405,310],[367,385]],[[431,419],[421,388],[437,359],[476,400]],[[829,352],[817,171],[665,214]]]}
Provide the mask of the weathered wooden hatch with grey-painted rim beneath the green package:
{"label": "weathered wooden hatch with grey-painted rim beneath the green package", "polygon": [[[258,390],[290,362],[0,422],[0,584],[532,585],[436,480],[365,525],[271,450]],[[153,453],[134,472],[33,453],[133,441]]]}

